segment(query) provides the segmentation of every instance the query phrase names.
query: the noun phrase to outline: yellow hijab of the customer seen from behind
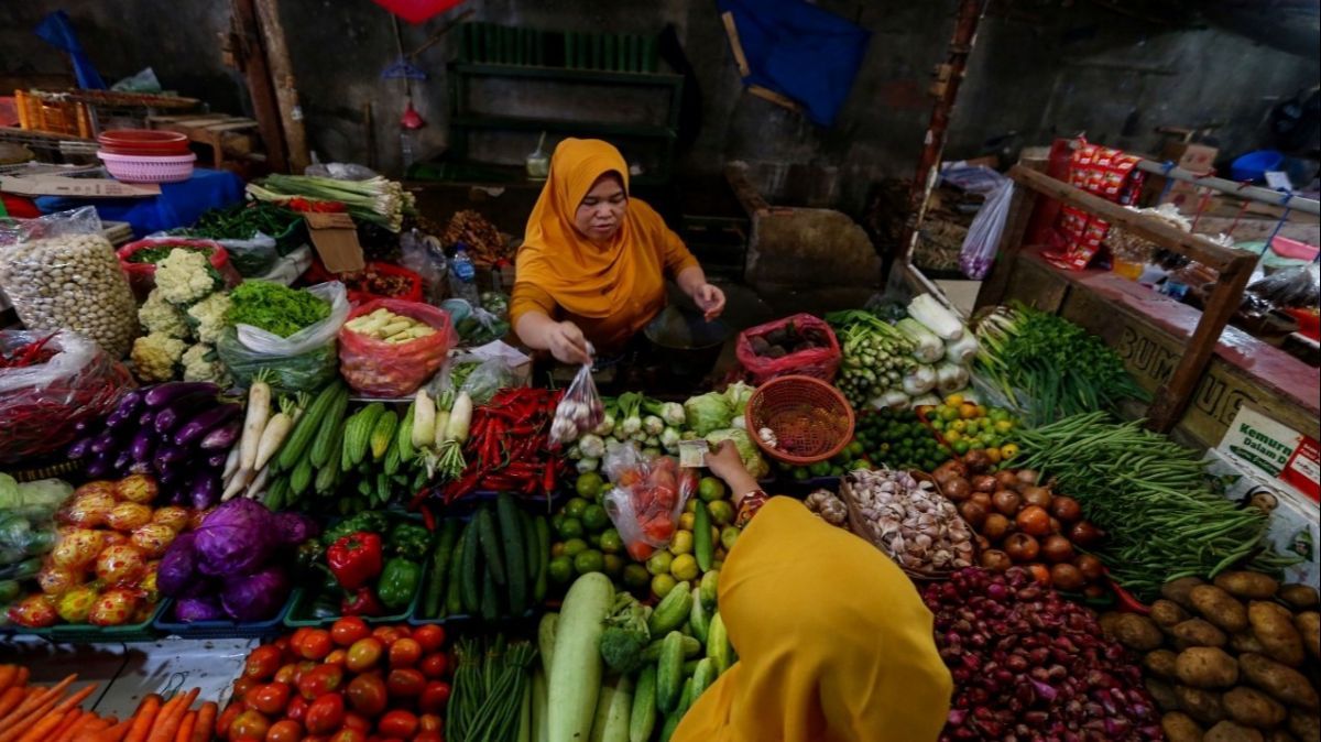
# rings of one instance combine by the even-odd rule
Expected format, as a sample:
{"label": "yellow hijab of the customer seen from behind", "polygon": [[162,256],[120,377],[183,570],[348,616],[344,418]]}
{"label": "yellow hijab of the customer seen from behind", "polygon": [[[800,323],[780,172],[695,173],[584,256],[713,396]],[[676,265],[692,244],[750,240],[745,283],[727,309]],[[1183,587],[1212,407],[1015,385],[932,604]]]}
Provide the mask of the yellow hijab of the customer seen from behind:
{"label": "yellow hijab of the customer seen from behind", "polygon": [[720,573],[738,661],[672,742],[934,742],[952,681],[913,584],[861,539],[773,498]]}

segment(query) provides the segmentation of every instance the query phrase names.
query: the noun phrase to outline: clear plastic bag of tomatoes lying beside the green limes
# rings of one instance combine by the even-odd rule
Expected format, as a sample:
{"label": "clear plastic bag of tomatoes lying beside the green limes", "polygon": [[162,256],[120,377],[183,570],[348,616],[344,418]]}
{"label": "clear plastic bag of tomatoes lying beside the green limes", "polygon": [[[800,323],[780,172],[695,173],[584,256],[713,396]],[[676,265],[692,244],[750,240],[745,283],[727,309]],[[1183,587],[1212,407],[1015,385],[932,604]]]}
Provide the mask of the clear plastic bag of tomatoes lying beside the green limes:
{"label": "clear plastic bag of tomatoes lying beside the green limes", "polygon": [[674,539],[679,516],[697,489],[695,469],[680,469],[679,459],[658,455],[646,459],[633,444],[606,452],[605,475],[614,483],[605,495],[605,512],[637,561],[645,561]]}

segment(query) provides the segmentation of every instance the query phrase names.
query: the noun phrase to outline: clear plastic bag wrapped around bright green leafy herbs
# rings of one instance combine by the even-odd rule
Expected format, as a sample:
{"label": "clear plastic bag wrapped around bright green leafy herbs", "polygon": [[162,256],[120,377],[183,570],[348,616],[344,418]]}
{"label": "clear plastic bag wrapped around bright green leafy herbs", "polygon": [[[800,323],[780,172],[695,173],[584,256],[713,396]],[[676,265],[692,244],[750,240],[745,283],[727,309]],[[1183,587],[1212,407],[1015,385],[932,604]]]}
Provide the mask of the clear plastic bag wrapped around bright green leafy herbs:
{"label": "clear plastic bag wrapped around bright green leafy herbs", "polygon": [[336,335],[349,316],[349,296],[343,284],[317,284],[309,293],[330,302],[330,316],[281,338],[251,325],[225,330],[215,351],[239,386],[268,368],[272,387],[287,392],[310,392],[330,383],[339,372]]}

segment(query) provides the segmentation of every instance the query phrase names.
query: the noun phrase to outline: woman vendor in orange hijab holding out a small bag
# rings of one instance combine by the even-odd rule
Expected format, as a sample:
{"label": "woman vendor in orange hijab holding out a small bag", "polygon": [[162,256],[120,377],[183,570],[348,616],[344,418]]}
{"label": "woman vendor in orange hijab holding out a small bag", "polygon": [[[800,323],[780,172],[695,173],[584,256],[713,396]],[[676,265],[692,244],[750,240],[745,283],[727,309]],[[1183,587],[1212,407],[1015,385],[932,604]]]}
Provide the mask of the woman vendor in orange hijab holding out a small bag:
{"label": "woman vendor in orange hijab holding out a small bag", "polygon": [[514,331],[561,363],[589,362],[588,342],[624,346],[664,308],[666,276],[708,320],[725,306],[679,235],[629,195],[629,166],[601,140],[555,148],[517,264]]}

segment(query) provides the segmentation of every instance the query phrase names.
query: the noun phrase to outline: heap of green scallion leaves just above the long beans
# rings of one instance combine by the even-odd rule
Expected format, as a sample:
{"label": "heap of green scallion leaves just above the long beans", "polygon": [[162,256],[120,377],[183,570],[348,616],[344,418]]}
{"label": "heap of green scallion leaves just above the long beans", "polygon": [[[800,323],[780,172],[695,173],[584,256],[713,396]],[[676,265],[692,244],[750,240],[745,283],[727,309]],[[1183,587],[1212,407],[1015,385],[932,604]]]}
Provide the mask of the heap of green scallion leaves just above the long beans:
{"label": "heap of green scallion leaves just above the long beans", "polygon": [[976,327],[976,371],[1029,425],[1044,425],[1120,400],[1149,399],[1104,341],[1078,325],[1032,309],[1000,306]]}

